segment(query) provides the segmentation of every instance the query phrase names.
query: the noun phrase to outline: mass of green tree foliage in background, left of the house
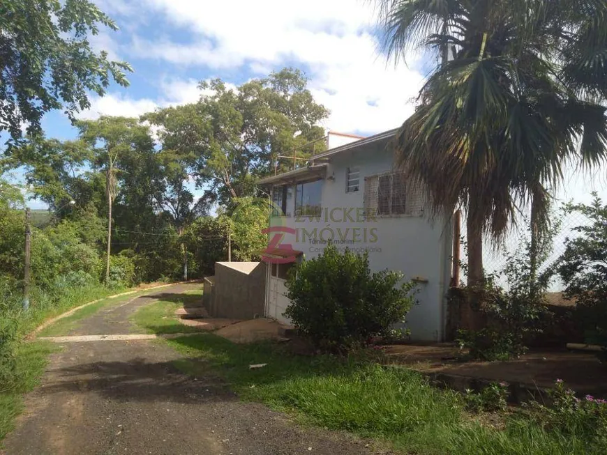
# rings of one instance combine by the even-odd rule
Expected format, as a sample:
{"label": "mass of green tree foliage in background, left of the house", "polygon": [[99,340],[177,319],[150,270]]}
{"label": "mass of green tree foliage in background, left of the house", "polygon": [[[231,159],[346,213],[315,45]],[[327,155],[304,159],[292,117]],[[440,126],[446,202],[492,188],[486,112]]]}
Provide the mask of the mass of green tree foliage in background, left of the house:
{"label": "mass of green tree foliage in background, left of the house", "polygon": [[[227,260],[228,234],[232,259],[259,259],[268,207],[253,198],[255,181],[279,153],[322,137],[317,121],[327,111],[295,70],[238,88],[220,81],[201,88],[199,102],[139,119],[77,121],[73,141],[29,134],[4,153],[1,167],[24,172],[31,194],[50,206],[51,226],[70,224],[82,244],[105,250],[110,282],[118,255],[133,262],[126,275],[135,282],[181,279],[186,268],[188,277],[212,274],[216,261]],[[196,186],[206,190],[202,197]]]}

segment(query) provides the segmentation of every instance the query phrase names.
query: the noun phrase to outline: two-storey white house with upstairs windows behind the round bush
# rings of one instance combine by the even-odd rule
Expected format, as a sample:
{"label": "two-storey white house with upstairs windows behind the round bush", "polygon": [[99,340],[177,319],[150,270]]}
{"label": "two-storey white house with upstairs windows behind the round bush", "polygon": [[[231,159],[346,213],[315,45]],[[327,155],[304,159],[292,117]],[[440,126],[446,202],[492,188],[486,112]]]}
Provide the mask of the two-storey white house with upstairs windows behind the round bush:
{"label": "two-storey white house with upstairs windows behind the round bush", "polygon": [[[293,256],[306,260],[327,242],[367,251],[372,270],[400,270],[419,283],[407,316],[414,340],[442,341],[447,319],[453,233],[451,219],[430,221],[424,193],[394,170],[389,141],[395,130],[357,139],[310,158],[306,166],[260,181],[273,205],[267,254],[266,315],[283,312]],[[331,146],[329,142],[329,146]],[[270,258],[270,259],[268,259]],[[276,263],[279,262],[279,263]]]}

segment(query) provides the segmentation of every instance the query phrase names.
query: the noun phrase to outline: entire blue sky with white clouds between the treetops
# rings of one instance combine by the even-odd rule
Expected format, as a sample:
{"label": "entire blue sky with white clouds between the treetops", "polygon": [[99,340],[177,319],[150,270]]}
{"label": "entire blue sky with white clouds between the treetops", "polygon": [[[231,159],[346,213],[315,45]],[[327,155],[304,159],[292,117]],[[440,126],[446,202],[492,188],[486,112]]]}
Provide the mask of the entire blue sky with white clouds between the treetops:
{"label": "entire blue sky with white clouds between the treetops", "polygon": [[[103,98],[92,96],[81,118],[139,116],[194,102],[201,80],[239,85],[293,66],[306,72],[315,99],[331,111],[324,128],[373,134],[412,113],[424,79],[418,68],[432,63],[387,61],[378,51],[375,11],[365,0],[95,1],[120,31],[101,29],[91,44],[135,71],[128,88],[113,84]],[[43,128],[58,139],[76,134],[61,111],[47,114]]]}

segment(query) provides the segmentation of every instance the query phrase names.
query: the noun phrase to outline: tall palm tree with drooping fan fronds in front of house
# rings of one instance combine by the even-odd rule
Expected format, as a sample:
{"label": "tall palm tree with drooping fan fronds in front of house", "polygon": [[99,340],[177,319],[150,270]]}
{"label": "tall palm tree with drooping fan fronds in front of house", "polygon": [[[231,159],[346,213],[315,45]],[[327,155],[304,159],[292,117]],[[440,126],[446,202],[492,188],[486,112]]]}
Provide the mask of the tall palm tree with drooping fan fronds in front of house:
{"label": "tall palm tree with drooping fan fronds in front of house", "polygon": [[[426,185],[435,214],[465,208],[467,279],[480,284],[484,233],[499,240],[525,206],[540,228],[547,187],[559,183],[564,162],[606,157],[605,109],[565,84],[570,61],[557,50],[566,38],[574,47],[565,24],[576,30],[580,20],[562,20],[550,0],[378,1],[389,55],[449,56],[394,144],[400,169]],[[562,1],[575,8],[576,0]]]}

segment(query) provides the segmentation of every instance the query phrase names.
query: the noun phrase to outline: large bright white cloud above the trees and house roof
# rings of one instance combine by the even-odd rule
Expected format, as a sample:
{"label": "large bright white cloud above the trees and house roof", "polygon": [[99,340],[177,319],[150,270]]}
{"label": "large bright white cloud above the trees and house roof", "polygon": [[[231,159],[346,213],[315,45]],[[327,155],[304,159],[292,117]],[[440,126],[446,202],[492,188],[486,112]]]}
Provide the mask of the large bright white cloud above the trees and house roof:
{"label": "large bright white cloud above the trees and house roof", "polygon": [[[377,132],[400,125],[423,77],[377,53],[372,2],[152,0],[165,20],[189,31],[190,43],[133,38],[125,49],[140,59],[216,70],[248,68],[257,75],[293,64],[309,68],[310,88],[331,109],[325,126]],[[177,88],[176,88],[177,90]],[[186,93],[185,88],[183,92]]]}

